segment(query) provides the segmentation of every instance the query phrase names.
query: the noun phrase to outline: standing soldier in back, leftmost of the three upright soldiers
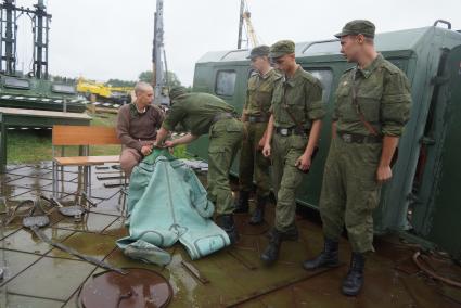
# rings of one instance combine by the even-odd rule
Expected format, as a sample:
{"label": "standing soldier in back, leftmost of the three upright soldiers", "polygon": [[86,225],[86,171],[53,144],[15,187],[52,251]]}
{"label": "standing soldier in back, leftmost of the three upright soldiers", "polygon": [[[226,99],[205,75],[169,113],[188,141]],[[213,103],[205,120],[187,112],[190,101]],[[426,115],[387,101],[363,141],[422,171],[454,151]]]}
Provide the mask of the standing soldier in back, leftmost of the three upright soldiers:
{"label": "standing soldier in back, leftmost of the three upright soldiers", "polygon": [[273,81],[280,77],[270,66],[269,47],[259,46],[252,50],[248,59],[255,72],[248,79],[246,102],[243,106],[242,121],[247,131],[242,142],[240,155],[240,193],[235,213],[248,211],[248,197],[256,181],[256,208],[249,219],[251,224],[264,221],[265,206],[270,192],[269,158],[262,155],[269,108],[272,100]]}

